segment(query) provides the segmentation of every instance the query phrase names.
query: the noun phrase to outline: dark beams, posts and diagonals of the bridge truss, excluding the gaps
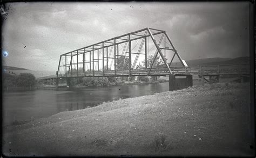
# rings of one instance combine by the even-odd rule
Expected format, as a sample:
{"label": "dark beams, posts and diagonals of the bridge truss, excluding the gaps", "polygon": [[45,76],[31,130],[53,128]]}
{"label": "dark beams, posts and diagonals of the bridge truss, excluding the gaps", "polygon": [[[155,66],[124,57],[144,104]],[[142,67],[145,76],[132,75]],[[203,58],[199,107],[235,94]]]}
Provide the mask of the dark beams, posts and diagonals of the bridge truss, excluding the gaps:
{"label": "dark beams, posts and diagonals of the bridge truss, excluding the gaps", "polygon": [[[154,33],[152,33],[152,31],[154,31]],[[139,34],[139,33],[143,33],[143,32],[145,33],[144,35]],[[165,35],[165,37],[169,41],[172,48],[160,48],[159,47],[160,42],[159,42],[159,44],[157,44],[157,41],[154,38],[154,35],[159,35],[159,34],[163,34],[163,36]],[[131,36],[133,36],[134,38],[131,38]],[[114,38],[111,38],[111,39],[108,39],[108,40],[98,42],[98,43],[93,44],[93,45],[89,45],[89,46],[86,46],[86,47],[83,47],[83,48],[76,49],[75,51],[71,51],[71,52],[64,53],[64,54],[60,55],[58,70],[56,72],[57,73],[56,75],[58,76],[60,67],[65,67],[65,76],[67,77],[67,74],[69,74],[70,70],[71,70],[71,77],[72,77],[72,65],[73,65],[73,66],[77,66],[77,77],[78,77],[78,64],[83,64],[83,73],[84,73],[84,77],[86,77],[85,64],[90,63],[90,72],[92,70],[92,74],[94,76],[94,73],[95,73],[94,63],[95,62],[98,63],[98,69],[99,69],[99,61],[102,60],[102,63],[103,63],[102,73],[103,73],[103,76],[104,76],[104,61],[106,61],[106,69],[108,70],[109,69],[109,63],[108,63],[109,59],[114,59],[114,76],[116,76],[116,70],[118,68],[118,66],[116,66],[116,59],[118,60],[119,56],[122,56],[118,52],[118,45],[125,43],[125,44],[129,45],[128,46],[129,47],[129,52],[126,52],[126,53],[129,53],[129,56],[127,56],[129,58],[129,76],[132,76],[132,69],[133,68],[132,68],[131,54],[140,54],[140,53],[132,52],[131,42],[134,41],[134,40],[139,40],[139,39],[143,39],[143,38],[145,39],[145,41],[147,41],[147,40],[149,40],[149,39],[147,39],[147,37],[151,37],[151,39],[154,43],[154,46],[157,48],[156,53],[154,53],[153,62],[151,63],[150,67],[147,68],[147,63],[146,62],[147,62],[147,51],[148,50],[147,50],[147,43],[145,42],[145,53],[144,53],[144,55],[145,55],[145,66],[146,66],[146,69],[149,69],[147,76],[151,76],[150,71],[153,67],[153,63],[156,60],[158,53],[160,54],[160,57],[164,61],[164,64],[165,64],[165,66],[168,69],[170,74],[173,74],[171,69],[170,69],[170,66],[171,66],[171,63],[172,63],[172,61],[173,61],[173,59],[176,55],[178,56],[178,59],[181,62],[181,64],[183,65],[183,67],[185,67],[180,55],[178,54],[177,50],[174,48],[174,46],[173,46],[169,36],[167,35],[166,31],[146,27],[146,28],[143,28],[142,30],[126,33],[126,34],[123,34],[123,35],[120,35],[120,36],[117,36],[117,37],[114,37]],[[117,42],[117,40],[118,40],[118,42]],[[114,57],[113,58],[110,57],[109,54],[108,54],[108,49],[110,47],[112,47],[112,48],[114,47],[114,55],[113,55]],[[106,57],[104,56],[104,48],[106,48]],[[100,49],[102,49],[102,52],[103,52],[102,57],[103,58],[99,59],[99,53],[98,53],[97,54],[98,58],[95,59],[95,56],[94,56],[95,51],[99,52]],[[116,51],[116,49],[117,49],[117,51]],[[171,51],[174,52],[169,65],[167,64],[167,61],[165,60],[164,55],[161,52],[162,49],[168,49],[168,50],[171,50]],[[86,53],[89,53],[89,58],[90,58],[89,60],[85,58]],[[78,55],[80,55],[80,54],[83,54],[83,61],[82,62],[78,62]],[[69,64],[67,63],[67,56],[70,56],[70,63]],[[77,56],[77,62],[76,63],[72,62],[72,59],[73,59],[74,56]],[[92,60],[91,60],[91,56],[92,56]],[[123,55],[123,56],[125,56],[125,55]],[[60,61],[62,60],[63,57],[65,58],[65,64],[60,65]],[[91,66],[91,64],[92,64],[92,66]],[[67,71],[67,67],[68,67],[68,71]],[[91,69],[91,67],[92,67],[92,69]]]}

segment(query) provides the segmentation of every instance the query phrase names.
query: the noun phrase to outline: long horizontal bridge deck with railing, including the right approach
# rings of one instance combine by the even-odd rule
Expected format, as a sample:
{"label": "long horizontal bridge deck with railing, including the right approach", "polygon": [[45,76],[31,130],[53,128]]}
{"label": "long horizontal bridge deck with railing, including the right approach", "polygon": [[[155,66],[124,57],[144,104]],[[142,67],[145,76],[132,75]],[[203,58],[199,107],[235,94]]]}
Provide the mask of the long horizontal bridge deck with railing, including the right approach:
{"label": "long horizontal bridge deck with railing, including the right approach", "polygon": [[[195,75],[235,75],[250,74],[249,64],[232,64],[218,66],[198,66],[198,67],[170,67],[173,74],[195,74]],[[110,77],[110,76],[166,76],[170,75],[168,68],[133,69],[131,74],[127,70],[72,72],[68,74],[58,74],[58,78],[65,77]],[[57,75],[39,77],[39,80],[56,78]]]}

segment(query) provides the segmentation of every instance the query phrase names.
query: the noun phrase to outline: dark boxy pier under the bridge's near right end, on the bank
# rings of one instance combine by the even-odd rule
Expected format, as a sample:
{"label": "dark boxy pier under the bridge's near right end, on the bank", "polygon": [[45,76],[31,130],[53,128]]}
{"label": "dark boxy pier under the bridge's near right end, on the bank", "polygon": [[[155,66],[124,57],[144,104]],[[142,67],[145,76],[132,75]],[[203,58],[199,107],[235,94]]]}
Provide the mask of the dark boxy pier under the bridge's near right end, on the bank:
{"label": "dark boxy pier under the bridge's near right end, on the bank", "polygon": [[193,86],[192,75],[169,75],[169,91],[184,89]]}

